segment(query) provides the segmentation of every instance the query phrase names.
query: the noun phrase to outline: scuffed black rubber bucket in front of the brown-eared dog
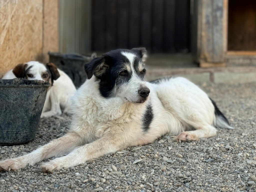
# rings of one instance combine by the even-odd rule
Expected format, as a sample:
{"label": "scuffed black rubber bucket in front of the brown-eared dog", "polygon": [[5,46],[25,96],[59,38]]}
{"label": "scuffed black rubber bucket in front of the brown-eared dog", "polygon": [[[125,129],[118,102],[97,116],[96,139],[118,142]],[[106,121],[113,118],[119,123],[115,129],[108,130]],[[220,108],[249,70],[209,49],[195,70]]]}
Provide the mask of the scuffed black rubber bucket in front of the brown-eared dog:
{"label": "scuffed black rubber bucket in front of the brown-eared dog", "polygon": [[26,79],[0,79],[0,144],[35,138],[50,84]]}

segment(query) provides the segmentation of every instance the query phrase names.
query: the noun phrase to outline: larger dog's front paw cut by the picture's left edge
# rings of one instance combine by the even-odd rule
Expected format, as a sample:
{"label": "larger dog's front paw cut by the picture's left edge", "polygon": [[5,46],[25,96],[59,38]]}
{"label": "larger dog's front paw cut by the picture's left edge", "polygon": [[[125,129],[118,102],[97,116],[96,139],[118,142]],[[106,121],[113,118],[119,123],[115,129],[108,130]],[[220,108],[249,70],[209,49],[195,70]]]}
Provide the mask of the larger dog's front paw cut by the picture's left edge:
{"label": "larger dog's front paw cut by the picture's left edge", "polygon": [[0,171],[19,170],[24,167],[26,167],[26,164],[19,159],[6,159],[0,161]]}

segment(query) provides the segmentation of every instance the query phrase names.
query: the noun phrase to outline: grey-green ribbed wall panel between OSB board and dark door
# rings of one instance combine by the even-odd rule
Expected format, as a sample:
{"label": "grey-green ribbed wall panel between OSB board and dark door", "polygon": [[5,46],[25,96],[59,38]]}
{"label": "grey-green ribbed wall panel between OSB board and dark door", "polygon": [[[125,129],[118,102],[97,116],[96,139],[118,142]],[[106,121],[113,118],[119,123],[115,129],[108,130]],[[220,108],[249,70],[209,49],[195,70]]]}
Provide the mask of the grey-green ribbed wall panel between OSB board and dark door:
{"label": "grey-green ribbed wall panel between OSB board and dark door", "polygon": [[59,0],[59,51],[91,51],[91,0]]}

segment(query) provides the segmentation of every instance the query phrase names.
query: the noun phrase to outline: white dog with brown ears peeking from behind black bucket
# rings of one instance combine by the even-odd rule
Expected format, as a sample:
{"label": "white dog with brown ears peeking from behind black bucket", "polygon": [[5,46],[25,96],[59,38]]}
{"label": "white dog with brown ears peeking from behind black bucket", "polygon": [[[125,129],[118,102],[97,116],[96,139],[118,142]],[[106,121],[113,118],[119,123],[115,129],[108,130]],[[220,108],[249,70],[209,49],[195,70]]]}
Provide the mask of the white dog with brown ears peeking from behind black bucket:
{"label": "white dog with brown ears peeking from behind black bucket", "polygon": [[51,84],[46,94],[41,117],[60,115],[62,111],[71,114],[71,97],[76,92],[76,87],[69,76],[53,63],[46,65],[37,61],[22,63],[8,71],[2,79],[15,78],[41,80]]}

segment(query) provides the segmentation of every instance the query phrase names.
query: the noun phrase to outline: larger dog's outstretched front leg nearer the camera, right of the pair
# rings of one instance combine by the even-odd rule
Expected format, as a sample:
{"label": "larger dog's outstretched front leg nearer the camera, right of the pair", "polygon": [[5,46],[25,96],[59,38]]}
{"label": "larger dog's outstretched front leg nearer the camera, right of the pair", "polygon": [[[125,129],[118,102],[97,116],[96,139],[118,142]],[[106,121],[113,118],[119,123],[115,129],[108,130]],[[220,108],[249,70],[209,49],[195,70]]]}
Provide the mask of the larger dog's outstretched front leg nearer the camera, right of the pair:
{"label": "larger dog's outstretched front leg nearer the camera, right of the pair", "polygon": [[61,168],[76,166],[120,150],[125,147],[123,143],[124,140],[122,138],[118,139],[117,137],[113,137],[113,135],[106,135],[92,143],[74,149],[66,156],[56,158],[47,163],[42,163],[41,168],[44,172],[52,173]]}

